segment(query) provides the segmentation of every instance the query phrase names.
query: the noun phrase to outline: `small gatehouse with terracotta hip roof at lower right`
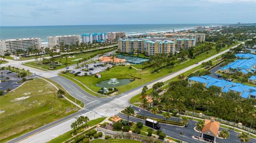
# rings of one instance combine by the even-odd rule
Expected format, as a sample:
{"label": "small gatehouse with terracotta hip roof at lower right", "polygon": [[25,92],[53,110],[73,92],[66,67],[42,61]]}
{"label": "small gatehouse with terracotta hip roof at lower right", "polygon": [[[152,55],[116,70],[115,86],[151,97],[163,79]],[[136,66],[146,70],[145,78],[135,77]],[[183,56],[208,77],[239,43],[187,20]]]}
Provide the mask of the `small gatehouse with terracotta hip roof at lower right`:
{"label": "small gatehouse with terracotta hip roof at lower right", "polygon": [[211,120],[205,119],[204,128],[201,132],[201,138],[207,141],[216,142],[216,137],[218,137],[218,132],[220,128],[220,122],[214,120],[214,117],[211,117]]}

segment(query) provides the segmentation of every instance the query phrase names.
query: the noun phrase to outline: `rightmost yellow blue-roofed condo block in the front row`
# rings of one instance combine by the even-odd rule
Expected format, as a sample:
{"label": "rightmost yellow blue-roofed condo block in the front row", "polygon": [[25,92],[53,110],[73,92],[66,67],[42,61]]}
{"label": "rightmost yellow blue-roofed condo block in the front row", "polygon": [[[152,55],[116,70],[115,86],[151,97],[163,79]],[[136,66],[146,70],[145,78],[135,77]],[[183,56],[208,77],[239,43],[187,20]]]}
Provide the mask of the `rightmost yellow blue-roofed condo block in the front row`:
{"label": "rightmost yellow blue-roofed condo block in the front row", "polygon": [[188,50],[189,48],[196,46],[196,39],[189,39],[189,38],[178,38],[173,39],[175,42],[175,50]]}

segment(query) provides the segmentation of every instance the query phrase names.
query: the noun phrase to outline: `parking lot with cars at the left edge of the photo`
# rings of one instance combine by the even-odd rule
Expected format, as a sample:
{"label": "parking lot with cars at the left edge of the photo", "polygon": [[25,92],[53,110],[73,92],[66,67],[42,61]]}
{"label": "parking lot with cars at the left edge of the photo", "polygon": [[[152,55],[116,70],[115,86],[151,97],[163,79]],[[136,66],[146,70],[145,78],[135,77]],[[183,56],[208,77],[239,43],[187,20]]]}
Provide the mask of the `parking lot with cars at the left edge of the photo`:
{"label": "parking lot with cars at the left edge of the photo", "polygon": [[[7,89],[10,89],[10,90],[15,89],[22,84],[22,83],[17,83],[22,79],[17,77],[17,73],[15,72],[7,73],[7,72],[9,72],[9,70],[1,70],[1,73],[3,73],[3,78],[1,74],[0,90],[3,90],[3,91]],[[7,77],[9,77],[9,79],[7,79]]]}

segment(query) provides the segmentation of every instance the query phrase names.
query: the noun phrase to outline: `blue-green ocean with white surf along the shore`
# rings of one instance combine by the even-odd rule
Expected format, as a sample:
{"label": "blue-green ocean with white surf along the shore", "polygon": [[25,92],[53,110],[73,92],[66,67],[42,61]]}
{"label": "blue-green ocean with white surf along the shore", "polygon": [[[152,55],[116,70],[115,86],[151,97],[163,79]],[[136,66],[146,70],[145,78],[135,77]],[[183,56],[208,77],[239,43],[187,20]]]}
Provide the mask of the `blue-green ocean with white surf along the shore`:
{"label": "blue-green ocean with white surf along the shore", "polygon": [[0,39],[37,37],[47,43],[48,36],[82,35],[84,33],[124,31],[126,35],[139,33],[172,31],[194,28],[197,26],[218,26],[220,24],[118,24],[85,26],[19,26],[0,27]]}

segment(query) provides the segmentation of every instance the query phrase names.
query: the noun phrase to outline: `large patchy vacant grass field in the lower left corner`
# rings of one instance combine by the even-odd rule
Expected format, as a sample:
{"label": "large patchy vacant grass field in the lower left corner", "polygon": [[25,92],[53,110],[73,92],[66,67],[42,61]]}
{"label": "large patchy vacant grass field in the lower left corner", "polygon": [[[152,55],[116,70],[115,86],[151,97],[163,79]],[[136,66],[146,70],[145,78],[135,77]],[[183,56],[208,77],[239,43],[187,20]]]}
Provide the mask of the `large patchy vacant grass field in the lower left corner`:
{"label": "large patchy vacant grass field in the lower left corner", "polygon": [[[26,95],[26,92],[30,94]],[[75,106],[57,98],[57,90],[42,79],[27,81],[16,90],[0,97],[0,142],[75,113]],[[20,97],[28,97],[15,100]]]}

